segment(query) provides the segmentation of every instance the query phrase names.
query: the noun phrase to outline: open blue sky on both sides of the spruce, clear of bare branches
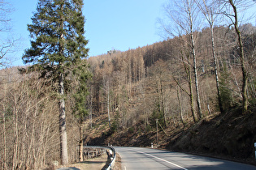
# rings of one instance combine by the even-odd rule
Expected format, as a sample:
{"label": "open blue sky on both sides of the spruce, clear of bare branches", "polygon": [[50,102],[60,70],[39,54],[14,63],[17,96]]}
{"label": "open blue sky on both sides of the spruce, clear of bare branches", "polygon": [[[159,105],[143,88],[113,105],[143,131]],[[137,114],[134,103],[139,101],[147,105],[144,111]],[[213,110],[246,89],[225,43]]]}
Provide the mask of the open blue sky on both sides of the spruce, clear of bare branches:
{"label": "open blue sky on both sides of the spruce, clear of bare branches", "polygon": [[[15,37],[20,42],[15,53],[14,66],[23,65],[21,56],[30,47],[27,24],[37,8],[37,0],[10,0],[15,11],[12,18]],[[158,36],[156,19],[166,0],[84,0],[85,38],[89,56],[97,56],[111,49],[125,51],[138,46],[152,45],[162,40]]]}

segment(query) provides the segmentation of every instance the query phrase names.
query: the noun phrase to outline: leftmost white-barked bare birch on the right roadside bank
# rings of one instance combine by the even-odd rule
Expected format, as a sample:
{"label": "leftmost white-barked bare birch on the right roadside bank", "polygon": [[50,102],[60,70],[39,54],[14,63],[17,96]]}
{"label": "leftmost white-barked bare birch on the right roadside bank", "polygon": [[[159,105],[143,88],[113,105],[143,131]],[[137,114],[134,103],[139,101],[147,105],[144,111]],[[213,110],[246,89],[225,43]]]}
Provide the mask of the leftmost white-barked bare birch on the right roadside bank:
{"label": "leftmost white-barked bare birch on the right roadside bank", "polygon": [[[200,30],[201,20],[199,19],[199,8],[193,0],[170,1],[167,6],[164,6],[167,18],[173,21],[175,26],[170,26],[168,23],[161,23],[163,29],[170,36],[188,36],[186,40],[190,49],[190,54],[193,57],[193,74],[195,80],[197,94],[197,117],[202,119],[202,108],[199,94],[199,84],[197,75],[197,51],[196,39],[197,32]],[[184,39],[185,40],[185,39]],[[189,55],[190,56],[190,55]]]}

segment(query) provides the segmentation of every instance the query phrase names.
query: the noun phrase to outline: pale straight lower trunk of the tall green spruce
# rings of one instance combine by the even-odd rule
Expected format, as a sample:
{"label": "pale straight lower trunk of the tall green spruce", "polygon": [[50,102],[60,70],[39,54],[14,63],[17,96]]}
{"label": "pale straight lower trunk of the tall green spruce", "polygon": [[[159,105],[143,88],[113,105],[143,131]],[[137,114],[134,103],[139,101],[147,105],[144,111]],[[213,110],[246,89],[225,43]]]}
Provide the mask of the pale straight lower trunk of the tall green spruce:
{"label": "pale straight lower trunk of the tall green spruce", "polygon": [[64,74],[59,75],[59,134],[60,134],[60,156],[62,164],[68,164],[67,155],[67,130],[66,130],[66,113],[64,101]]}

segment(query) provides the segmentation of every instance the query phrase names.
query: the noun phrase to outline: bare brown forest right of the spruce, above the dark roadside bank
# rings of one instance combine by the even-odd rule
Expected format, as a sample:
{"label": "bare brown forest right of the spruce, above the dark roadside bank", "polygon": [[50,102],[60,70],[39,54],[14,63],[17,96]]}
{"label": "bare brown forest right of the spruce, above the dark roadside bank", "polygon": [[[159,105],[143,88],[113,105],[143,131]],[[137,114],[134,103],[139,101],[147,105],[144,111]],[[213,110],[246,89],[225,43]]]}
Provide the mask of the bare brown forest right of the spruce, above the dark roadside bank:
{"label": "bare brown forest right of the spruce, above the dark roadside bank", "polygon": [[[255,30],[251,24],[245,24],[242,28]],[[202,32],[197,32],[196,37],[203,117],[220,111],[209,32],[209,28],[204,28]],[[214,28],[214,32],[221,101],[225,112],[232,106],[241,105],[242,75],[236,57],[236,40],[227,38],[232,37],[233,30],[218,27]],[[158,117],[164,126],[178,122],[185,125],[188,121],[200,120],[197,106],[194,106],[193,113],[190,107],[190,96],[195,98],[190,68],[193,61],[191,57],[182,56],[182,53],[186,53],[181,49],[185,48],[180,43],[183,38],[186,37],[175,37],[125,52],[112,50],[101,56],[89,57],[89,70],[93,73],[93,79],[89,83],[90,114],[110,114],[112,122],[124,127],[130,127],[141,120],[146,128],[150,125],[152,116]],[[249,103],[253,103],[255,33],[245,34],[243,40],[248,45],[245,47],[250,72],[248,96]],[[188,74],[192,79],[191,92]]]}

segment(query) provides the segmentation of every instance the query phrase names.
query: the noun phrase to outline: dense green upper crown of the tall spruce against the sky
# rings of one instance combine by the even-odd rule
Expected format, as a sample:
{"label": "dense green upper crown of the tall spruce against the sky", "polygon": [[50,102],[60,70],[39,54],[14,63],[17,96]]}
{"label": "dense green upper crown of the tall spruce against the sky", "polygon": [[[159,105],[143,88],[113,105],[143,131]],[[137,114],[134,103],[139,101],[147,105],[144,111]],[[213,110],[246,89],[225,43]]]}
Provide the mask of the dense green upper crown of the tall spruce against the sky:
{"label": "dense green upper crown of the tall spruce against the sky", "polygon": [[85,48],[85,17],[80,0],[40,0],[33,23],[28,24],[31,48],[26,49],[24,63],[42,67],[70,66],[87,57]]}

